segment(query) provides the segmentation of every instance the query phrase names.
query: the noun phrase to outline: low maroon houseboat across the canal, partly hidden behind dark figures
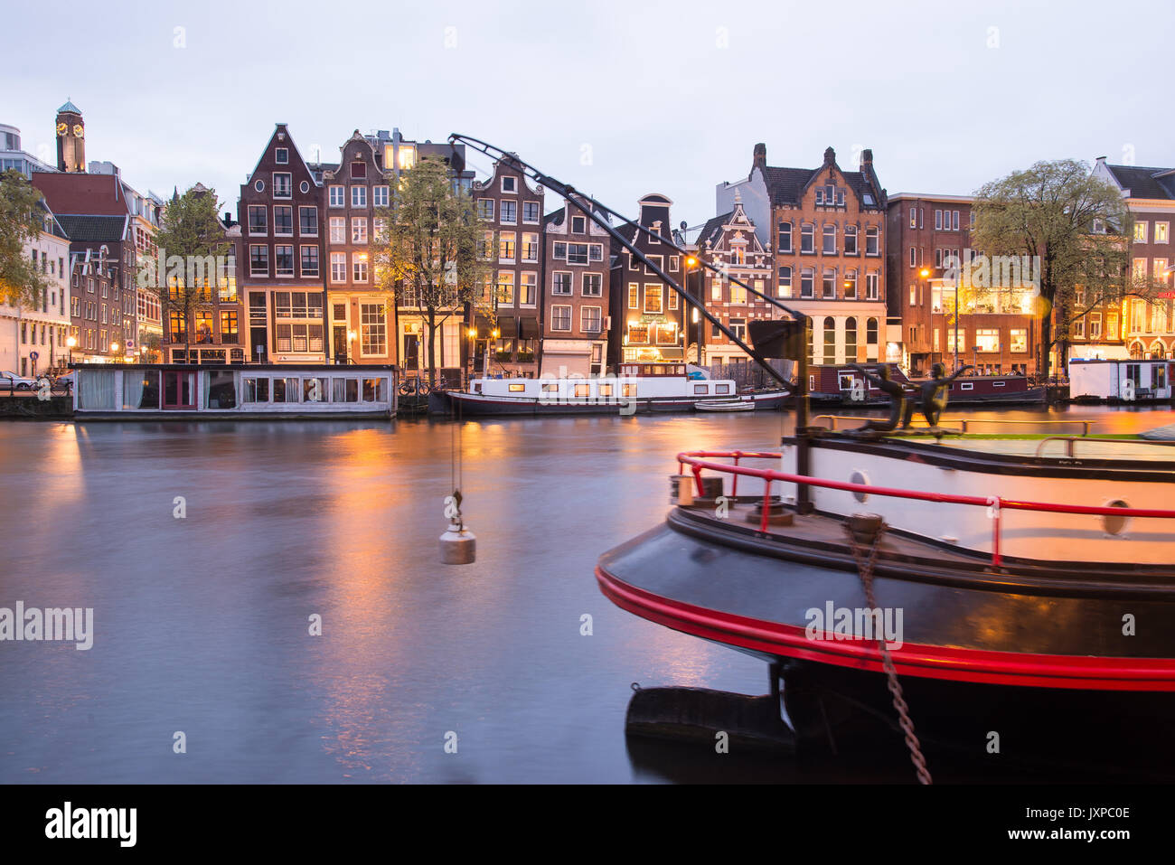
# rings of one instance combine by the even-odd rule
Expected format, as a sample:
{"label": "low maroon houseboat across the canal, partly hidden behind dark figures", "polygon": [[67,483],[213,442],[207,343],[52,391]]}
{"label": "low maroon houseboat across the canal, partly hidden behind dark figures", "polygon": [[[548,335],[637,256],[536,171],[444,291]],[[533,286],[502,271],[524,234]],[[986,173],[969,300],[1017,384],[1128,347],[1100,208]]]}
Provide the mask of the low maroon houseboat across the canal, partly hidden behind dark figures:
{"label": "low maroon houseboat across the canal, partly hidden behind dark figures", "polygon": [[[862,363],[877,374],[880,367],[889,368],[889,378],[918,387],[925,380],[911,378],[898,363]],[[808,367],[808,390],[812,404],[820,407],[878,407],[888,405],[888,397],[865,381],[852,367]],[[1025,404],[1045,400],[1045,388],[1029,387],[1022,375],[964,375],[951,384],[952,405]]]}

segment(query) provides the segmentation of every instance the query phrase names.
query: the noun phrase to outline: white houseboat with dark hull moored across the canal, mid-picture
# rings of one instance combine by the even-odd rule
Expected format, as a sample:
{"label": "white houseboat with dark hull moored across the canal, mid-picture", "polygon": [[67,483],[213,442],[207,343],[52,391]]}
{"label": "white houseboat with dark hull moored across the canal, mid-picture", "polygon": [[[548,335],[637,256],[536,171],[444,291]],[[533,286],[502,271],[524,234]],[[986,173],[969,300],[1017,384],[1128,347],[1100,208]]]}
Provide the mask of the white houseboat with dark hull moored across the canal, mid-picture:
{"label": "white houseboat with dark hull moored across the canal, mid-picture", "polygon": [[685,363],[623,363],[617,375],[607,376],[474,378],[468,390],[432,394],[429,410],[462,416],[634,415],[692,411],[714,400],[766,410],[787,400],[781,388],[739,393],[732,380],[707,375]]}

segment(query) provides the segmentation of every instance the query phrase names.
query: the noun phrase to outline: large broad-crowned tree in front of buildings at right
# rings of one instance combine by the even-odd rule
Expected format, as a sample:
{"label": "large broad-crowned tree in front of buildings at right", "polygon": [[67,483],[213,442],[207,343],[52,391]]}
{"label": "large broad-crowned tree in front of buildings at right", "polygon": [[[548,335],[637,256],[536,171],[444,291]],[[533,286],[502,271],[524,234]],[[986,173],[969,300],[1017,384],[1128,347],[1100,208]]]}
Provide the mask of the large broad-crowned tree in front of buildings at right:
{"label": "large broad-crowned tree in front of buildings at right", "polygon": [[1038,162],[1013,172],[983,185],[973,209],[976,248],[989,256],[1027,256],[1039,289],[1036,368],[1046,377],[1049,353],[1067,342],[1073,321],[1146,290],[1128,279],[1124,241],[1132,222],[1126,203],[1085,162]]}

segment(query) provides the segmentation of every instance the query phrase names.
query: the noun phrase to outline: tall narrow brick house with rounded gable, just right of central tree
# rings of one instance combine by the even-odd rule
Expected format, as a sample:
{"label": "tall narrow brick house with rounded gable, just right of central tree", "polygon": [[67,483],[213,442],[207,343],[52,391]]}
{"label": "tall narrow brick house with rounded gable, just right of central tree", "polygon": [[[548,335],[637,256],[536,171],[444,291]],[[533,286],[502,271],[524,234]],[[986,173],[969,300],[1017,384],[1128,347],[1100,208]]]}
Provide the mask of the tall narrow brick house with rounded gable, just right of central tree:
{"label": "tall narrow brick house with rounded gable, just right of central tree", "polygon": [[505,157],[494,163],[492,176],[474,182],[470,194],[483,233],[481,257],[491,269],[488,294],[483,290],[474,310],[475,369],[484,368],[484,361],[477,362],[478,349],[484,350],[483,333],[490,330],[490,373],[533,378],[543,333],[544,189],[531,187],[521,167]]}

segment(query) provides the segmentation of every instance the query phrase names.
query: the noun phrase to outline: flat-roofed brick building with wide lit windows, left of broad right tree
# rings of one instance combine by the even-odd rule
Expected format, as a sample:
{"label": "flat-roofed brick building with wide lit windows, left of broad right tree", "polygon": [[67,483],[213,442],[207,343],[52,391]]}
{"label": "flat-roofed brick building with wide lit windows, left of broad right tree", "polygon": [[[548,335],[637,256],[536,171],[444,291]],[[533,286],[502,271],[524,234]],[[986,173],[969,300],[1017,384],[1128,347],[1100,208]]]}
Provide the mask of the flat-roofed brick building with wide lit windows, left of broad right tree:
{"label": "flat-roofed brick building with wide lit windows, left of broad right tree", "polygon": [[953,369],[956,356],[979,374],[1036,370],[1040,323],[1033,315],[1032,286],[994,284],[1002,279],[995,270],[989,271],[988,286],[956,277],[969,256],[979,254],[971,242],[973,201],[964,195],[911,193],[888,199],[886,299],[901,328],[886,360],[904,364],[912,375],[927,375],[936,362]]}

